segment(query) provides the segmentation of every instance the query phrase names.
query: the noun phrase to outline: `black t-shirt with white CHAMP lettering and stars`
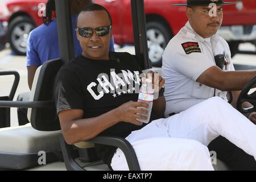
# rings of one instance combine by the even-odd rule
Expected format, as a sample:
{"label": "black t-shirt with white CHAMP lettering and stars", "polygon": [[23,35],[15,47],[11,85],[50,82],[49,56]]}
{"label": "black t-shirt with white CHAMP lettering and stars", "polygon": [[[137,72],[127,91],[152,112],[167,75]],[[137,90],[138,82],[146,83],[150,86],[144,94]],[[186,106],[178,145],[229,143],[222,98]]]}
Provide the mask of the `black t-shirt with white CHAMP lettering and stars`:
{"label": "black t-shirt with white CHAMP lettering and stars", "polygon": [[[60,69],[55,86],[57,113],[81,109],[84,118],[92,118],[138,100],[142,71],[134,57],[126,52],[110,52],[109,57],[109,60],[92,60],[80,55]],[[143,126],[119,122],[100,135],[126,138]],[[96,144],[97,155],[108,165],[116,149]]]}

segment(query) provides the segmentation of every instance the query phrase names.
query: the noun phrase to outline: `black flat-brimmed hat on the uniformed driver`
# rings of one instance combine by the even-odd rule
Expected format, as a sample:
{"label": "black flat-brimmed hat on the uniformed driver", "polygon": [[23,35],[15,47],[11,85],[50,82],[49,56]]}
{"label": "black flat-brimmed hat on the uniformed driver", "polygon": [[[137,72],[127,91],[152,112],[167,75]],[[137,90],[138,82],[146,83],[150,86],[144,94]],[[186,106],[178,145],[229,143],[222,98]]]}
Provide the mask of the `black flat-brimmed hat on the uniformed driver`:
{"label": "black flat-brimmed hat on the uniformed driver", "polygon": [[223,2],[223,0],[187,0],[187,3],[174,4],[173,6],[208,6],[210,3],[216,3],[216,5],[233,5],[238,2]]}

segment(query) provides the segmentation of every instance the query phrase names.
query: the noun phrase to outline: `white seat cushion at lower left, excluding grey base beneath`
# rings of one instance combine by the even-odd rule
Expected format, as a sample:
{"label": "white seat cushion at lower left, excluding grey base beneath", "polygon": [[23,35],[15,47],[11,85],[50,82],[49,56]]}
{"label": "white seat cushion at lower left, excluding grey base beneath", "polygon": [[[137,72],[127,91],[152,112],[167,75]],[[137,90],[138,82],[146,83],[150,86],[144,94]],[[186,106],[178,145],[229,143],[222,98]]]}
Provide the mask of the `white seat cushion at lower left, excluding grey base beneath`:
{"label": "white seat cushion at lower left, excluding grey base beneath", "polygon": [[60,131],[38,131],[25,126],[0,129],[0,153],[35,154],[60,150]]}

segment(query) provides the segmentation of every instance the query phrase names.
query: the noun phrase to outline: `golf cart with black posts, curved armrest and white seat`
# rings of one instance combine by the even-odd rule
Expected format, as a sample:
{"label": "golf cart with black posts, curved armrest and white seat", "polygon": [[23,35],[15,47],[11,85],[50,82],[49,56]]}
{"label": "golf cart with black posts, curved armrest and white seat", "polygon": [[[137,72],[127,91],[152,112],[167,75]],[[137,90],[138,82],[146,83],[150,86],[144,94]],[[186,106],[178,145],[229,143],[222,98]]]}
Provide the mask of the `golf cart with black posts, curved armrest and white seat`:
{"label": "golf cart with black posts, curved armrest and white seat", "polygon": [[[131,0],[135,52],[142,69],[150,69],[146,39],[144,2]],[[127,140],[117,137],[95,137],[85,142],[69,145],[60,130],[53,100],[53,85],[61,66],[74,56],[73,34],[69,0],[56,0],[57,28],[60,58],[49,60],[36,71],[30,101],[12,101],[18,86],[17,72],[0,72],[14,75],[10,95],[0,98],[0,169],[19,170],[109,170],[98,159],[94,144],[105,144],[121,148],[130,170],[139,171],[135,151]],[[250,86],[250,85],[249,85]],[[247,92],[244,94],[247,96]],[[246,100],[247,97],[242,97]],[[241,101],[243,101],[241,99]],[[256,105],[255,105],[256,106]],[[10,107],[27,107],[29,124],[10,127]],[[228,169],[220,160],[214,165],[217,170]]]}

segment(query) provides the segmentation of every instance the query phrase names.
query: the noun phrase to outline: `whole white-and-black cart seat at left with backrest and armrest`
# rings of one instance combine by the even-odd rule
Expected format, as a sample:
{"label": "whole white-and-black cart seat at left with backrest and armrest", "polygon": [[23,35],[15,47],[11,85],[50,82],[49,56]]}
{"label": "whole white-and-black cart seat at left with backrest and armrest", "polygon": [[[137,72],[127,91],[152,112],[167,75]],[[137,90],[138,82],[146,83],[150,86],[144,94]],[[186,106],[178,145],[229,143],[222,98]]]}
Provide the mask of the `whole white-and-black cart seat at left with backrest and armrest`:
{"label": "whole white-and-black cart seat at left with backrest and armrest", "polygon": [[61,65],[61,60],[52,60],[36,70],[30,102],[0,101],[2,107],[33,107],[28,109],[31,123],[0,129],[0,168],[26,169],[38,166],[39,152],[45,152],[46,163],[60,159],[60,125],[51,90]]}

